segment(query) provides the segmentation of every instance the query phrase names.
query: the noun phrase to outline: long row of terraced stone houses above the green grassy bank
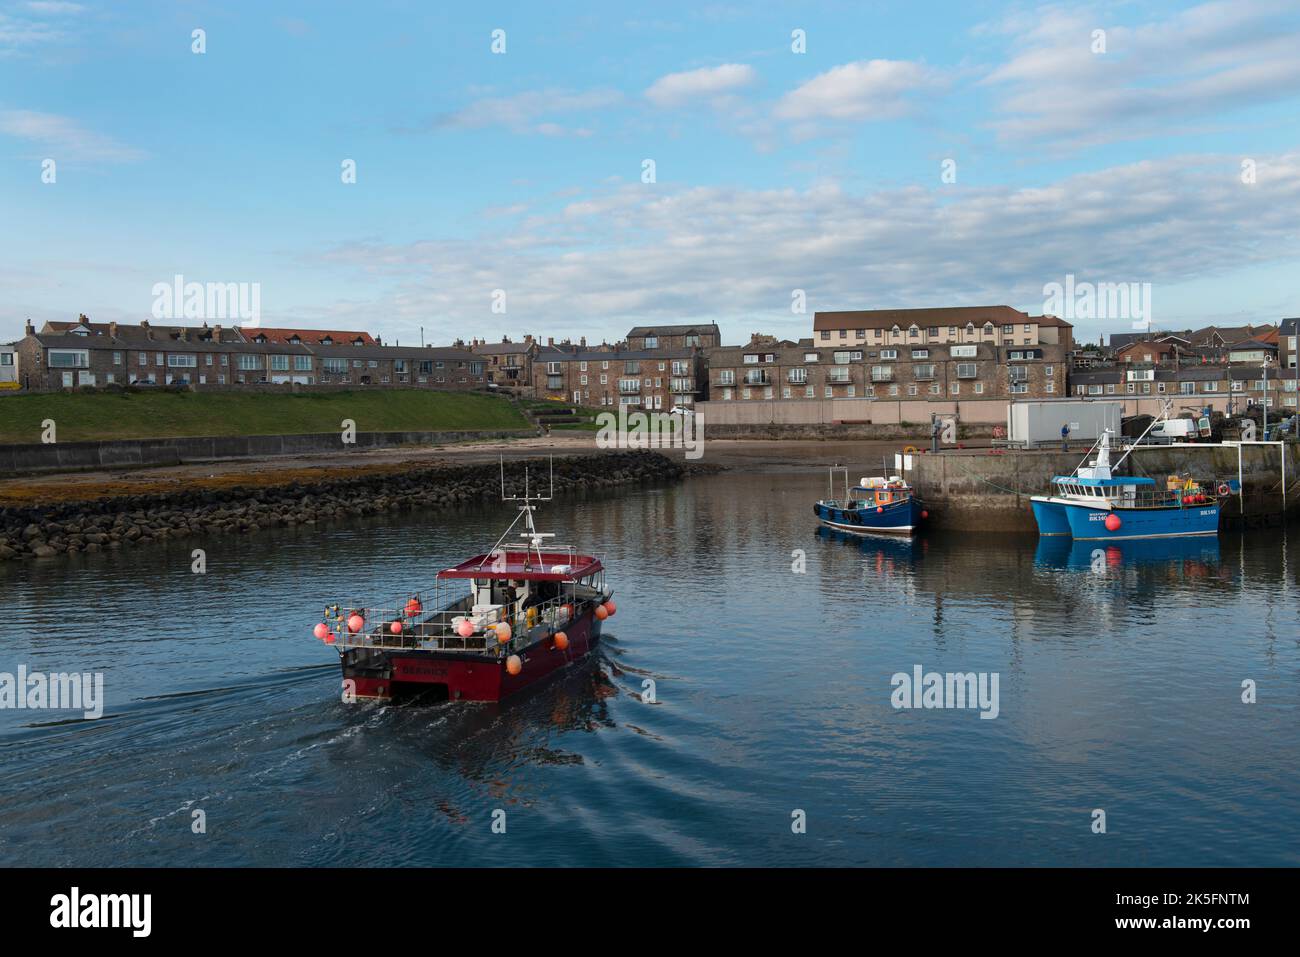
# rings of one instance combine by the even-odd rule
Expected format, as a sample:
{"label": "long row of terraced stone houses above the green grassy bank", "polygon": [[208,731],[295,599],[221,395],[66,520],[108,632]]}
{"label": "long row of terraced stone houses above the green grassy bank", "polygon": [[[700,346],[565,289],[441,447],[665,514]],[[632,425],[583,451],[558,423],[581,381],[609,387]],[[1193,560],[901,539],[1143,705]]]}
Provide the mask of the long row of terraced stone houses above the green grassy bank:
{"label": "long row of terraced stone houses above the green grassy bank", "polygon": [[482,360],[462,348],[382,346],[369,334],[311,329],[224,329],[29,322],[16,343],[26,389],[105,385],[424,386],[474,389]]}

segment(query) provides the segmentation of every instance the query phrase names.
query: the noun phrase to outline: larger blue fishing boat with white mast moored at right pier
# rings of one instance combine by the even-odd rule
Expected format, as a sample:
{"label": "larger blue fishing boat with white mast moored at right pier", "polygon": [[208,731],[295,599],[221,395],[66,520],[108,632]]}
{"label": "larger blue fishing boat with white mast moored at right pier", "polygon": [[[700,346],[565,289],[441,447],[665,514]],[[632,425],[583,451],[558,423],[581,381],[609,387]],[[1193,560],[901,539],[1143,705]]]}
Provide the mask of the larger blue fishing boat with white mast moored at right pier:
{"label": "larger blue fishing boat with white mast moored at right pier", "polygon": [[[1200,484],[1171,478],[1161,489],[1154,478],[1115,476],[1109,429],[1095,450],[1096,459],[1074,475],[1056,476],[1049,494],[1030,499],[1039,534],[1079,541],[1218,534],[1218,501]],[[1127,456],[1124,452],[1115,468]]]}

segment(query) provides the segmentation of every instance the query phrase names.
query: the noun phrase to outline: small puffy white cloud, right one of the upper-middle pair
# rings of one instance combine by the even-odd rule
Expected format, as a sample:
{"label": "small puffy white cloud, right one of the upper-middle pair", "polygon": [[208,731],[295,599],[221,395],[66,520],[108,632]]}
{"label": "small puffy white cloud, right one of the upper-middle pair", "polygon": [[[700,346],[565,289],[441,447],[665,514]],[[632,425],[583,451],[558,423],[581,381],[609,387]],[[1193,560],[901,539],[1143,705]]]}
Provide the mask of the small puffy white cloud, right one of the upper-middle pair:
{"label": "small puffy white cloud, right one of the upper-middle pair", "polygon": [[892,120],[914,107],[914,95],[940,88],[942,77],[907,60],[861,60],[835,66],[785,94],[781,120]]}

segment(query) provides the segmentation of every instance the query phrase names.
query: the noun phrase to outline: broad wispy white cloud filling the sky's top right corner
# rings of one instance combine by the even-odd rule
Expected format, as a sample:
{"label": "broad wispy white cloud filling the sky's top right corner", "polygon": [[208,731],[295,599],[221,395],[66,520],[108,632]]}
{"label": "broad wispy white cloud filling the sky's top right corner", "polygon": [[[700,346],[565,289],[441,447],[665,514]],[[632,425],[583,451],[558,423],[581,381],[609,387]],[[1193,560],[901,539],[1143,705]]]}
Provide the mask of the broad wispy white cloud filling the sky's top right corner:
{"label": "broad wispy white cloud filling the sky's top right corner", "polygon": [[[1093,31],[1106,49],[1093,53]],[[1171,125],[1300,95],[1300,8],[1206,3],[1140,26],[1044,8],[985,26],[1018,51],[984,83],[1000,90],[1004,140],[1088,146],[1162,135]]]}

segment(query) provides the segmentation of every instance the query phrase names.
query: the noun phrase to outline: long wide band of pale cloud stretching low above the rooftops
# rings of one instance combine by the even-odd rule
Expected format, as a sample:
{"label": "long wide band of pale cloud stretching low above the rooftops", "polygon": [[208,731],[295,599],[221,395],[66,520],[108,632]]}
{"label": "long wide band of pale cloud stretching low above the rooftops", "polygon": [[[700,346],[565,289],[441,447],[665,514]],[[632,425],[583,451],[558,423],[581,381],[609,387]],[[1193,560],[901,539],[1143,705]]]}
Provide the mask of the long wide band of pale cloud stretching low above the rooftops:
{"label": "long wide band of pale cloud stretching low above the rooftops", "polygon": [[623,186],[524,222],[485,222],[472,239],[348,243],[322,260],[389,283],[365,315],[391,316],[389,334],[402,338],[434,320],[443,338],[500,326],[494,289],[507,290],[520,333],[606,335],[710,316],[807,334],[810,319],[790,315],[792,289],[823,309],[1037,308],[1044,283],[1074,273],[1153,282],[1158,303],[1161,283],[1294,261],[1297,218],[1300,153],[1261,157],[1253,187],[1238,157],[1178,157],[952,194]]}

